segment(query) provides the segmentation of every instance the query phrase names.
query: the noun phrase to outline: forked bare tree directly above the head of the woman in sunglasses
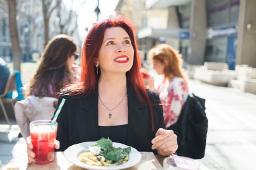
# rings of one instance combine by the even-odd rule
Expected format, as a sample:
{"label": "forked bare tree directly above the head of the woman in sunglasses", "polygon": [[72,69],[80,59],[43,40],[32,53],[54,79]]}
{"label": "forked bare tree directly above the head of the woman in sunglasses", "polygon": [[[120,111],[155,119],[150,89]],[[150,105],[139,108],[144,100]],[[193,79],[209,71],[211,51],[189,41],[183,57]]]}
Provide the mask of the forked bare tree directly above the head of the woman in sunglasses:
{"label": "forked bare tree directly above the head of the woman in sunglasses", "polygon": [[54,0],[42,0],[42,13],[43,13],[43,21],[44,21],[44,47],[49,41],[49,21],[52,12],[56,9],[61,0],[56,0],[56,4],[53,5]]}

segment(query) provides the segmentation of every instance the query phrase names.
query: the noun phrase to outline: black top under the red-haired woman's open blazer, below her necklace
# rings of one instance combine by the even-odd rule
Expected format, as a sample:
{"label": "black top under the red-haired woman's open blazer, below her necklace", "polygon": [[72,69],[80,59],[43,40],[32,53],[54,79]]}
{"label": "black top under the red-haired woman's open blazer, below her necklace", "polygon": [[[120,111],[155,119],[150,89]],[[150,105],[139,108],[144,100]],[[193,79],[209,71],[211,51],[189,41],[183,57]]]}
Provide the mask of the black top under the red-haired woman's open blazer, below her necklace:
{"label": "black top under the red-haired woman's open blazer, below her necklace", "polygon": [[113,142],[127,145],[128,124],[118,126],[98,126],[99,136],[110,138]]}

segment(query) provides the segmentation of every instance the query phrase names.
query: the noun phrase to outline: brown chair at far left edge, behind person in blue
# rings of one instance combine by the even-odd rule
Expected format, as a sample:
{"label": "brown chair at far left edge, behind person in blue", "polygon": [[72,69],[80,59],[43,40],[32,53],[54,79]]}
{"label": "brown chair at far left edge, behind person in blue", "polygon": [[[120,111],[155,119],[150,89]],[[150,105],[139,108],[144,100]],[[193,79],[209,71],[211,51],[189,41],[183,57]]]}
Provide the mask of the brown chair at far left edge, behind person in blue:
{"label": "brown chair at far left edge, behind person in blue", "polygon": [[9,128],[11,128],[11,122],[8,118],[8,115],[6,113],[6,110],[4,108],[3,102],[10,102],[14,111],[14,104],[13,104],[13,99],[12,98],[6,98],[6,94],[12,92],[13,90],[16,90],[16,74],[13,73],[9,76],[6,86],[5,86],[5,90],[3,92],[3,94],[0,94],[0,106],[2,108],[4,117],[7,121],[7,123],[9,124]]}

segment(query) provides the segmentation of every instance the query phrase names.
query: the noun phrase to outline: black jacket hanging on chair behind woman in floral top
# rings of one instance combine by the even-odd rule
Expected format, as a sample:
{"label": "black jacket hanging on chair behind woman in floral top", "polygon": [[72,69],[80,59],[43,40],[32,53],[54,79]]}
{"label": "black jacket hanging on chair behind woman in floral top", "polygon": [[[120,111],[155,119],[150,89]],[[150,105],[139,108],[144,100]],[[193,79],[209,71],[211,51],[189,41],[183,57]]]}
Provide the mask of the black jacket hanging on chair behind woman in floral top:
{"label": "black jacket hanging on chair behind woman in floral top", "polygon": [[176,123],[168,127],[177,135],[177,155],[193,159],[204,157],[208,119],[205,100],[195,94],[188,96]]}

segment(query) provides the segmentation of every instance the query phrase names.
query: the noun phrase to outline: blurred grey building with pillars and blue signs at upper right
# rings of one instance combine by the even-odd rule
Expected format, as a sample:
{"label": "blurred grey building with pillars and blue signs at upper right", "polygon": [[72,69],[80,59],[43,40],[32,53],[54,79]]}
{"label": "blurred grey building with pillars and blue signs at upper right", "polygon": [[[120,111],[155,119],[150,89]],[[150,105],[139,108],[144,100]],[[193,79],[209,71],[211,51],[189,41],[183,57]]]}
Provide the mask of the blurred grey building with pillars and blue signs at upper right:
{"label": "blurred grey building with pillars and blue signs at upper right", "polygon": [[[138,39],[144,43],[140,47],[146,51],[148,46],[165,42],[180,51],[188,65],[208,61],[227,63],[229,69],[256,67],[255,0],[142,1],[147,11],[168,12],[165,28],[157,28],[158,23],[138,30]],[[150,38],[154,40],[148,45]]]}

